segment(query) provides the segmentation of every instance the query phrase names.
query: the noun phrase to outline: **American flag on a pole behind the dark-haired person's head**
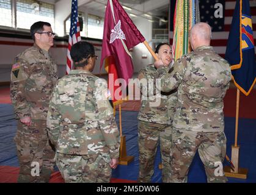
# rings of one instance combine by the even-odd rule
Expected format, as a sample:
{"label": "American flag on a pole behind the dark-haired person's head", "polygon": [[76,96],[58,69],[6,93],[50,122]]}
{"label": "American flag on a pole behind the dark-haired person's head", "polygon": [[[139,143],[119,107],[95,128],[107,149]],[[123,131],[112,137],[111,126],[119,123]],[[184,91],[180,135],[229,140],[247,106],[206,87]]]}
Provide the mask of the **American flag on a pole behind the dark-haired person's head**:
{"label": "American flag on a pole behind the dark-haired person's head", "polygon": [[73,68],[73,64],[70,56],[71,46],[77,43],[78,41],[81,41],[80,27],[79,27],[79,21],[78,21],[78,0],[72,0],[71,16],[70,16],[70,32],[68,37],[66,74],[69,74],[70,70]]}

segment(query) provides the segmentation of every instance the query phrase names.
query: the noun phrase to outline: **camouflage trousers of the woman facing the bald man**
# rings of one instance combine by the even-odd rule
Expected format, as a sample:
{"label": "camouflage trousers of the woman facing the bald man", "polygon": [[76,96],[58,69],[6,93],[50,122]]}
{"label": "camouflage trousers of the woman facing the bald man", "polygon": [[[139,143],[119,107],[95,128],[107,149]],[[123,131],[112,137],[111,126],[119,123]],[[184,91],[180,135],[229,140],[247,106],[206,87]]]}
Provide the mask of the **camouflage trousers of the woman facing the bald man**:
{"label": "camouflage trousers of the woman facing the bald man", "polygon": [[158,143],[161,148],[162,180],[169,180],[170,146],[172,127],[168,124],[156,124],[139,121],[139,180],[141,183],[151,182]]}

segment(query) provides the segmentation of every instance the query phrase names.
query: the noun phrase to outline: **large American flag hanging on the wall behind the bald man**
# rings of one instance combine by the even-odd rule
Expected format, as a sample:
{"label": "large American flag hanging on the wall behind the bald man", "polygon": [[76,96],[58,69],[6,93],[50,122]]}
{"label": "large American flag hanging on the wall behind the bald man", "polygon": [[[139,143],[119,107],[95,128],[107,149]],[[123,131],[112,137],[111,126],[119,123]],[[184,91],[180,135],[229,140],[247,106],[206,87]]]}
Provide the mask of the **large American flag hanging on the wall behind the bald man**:
{"label": "large American flag hanging on the wall behind the bald man", "polygon": [[[170,0],[174,1],[174,0]],[[248,0],[249,1],[249,0]],[[223,6],[224,18],[215,18],[214,5],[221,3]],[[225,50],[227,46],[227,40],[229,38],[229,31],[232,23],[233,12],[235,9],[235,0],[200,0],[200,19],[202,22],[208,22],[213,28],[211,46],[221,57],[225,57]],[[170,9],[172,12],[172,8]],[[208,11],[208,12],[207,12]],[[254,30],[254,43],[256,43],[256,7],[251,7],[252,15],[252,29]],[[171,16],[170,16],[171,17]],[[203,18],[202,18],[203,17]],[[224,20],[224,22],[223,22]],[[172,25],[172,24],[170,24]],[[173,29],[173,27],[170,29]],[[170,31],[170,44],[172,44],[173,31]]]}

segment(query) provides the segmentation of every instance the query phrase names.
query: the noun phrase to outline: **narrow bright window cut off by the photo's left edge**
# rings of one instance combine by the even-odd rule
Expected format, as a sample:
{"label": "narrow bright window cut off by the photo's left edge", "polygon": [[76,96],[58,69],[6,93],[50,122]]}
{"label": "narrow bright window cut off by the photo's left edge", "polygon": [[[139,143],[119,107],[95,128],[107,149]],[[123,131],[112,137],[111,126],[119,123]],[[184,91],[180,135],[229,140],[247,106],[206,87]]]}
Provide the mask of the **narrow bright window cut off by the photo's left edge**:
{"label": "narrow bright window cut off by the photo's left edge", "polygon": [[12,27],[11,0],[0,0],[0,26]]}

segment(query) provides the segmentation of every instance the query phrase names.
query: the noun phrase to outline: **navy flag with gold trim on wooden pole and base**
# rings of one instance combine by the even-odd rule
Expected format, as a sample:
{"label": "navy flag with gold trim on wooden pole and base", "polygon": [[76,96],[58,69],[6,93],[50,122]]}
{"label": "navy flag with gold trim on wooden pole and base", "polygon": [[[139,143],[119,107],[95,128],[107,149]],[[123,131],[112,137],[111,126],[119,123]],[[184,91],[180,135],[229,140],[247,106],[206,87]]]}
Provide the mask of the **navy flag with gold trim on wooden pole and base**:
{"label": "navy flag with gold trim on wooden pole and base", "polygon": [[[239,119],[240,91],[247,96],[247,94],[245,93],[246,91],[244,91],[243,88],[238,84],[238,82],[241,81],[239,79],[239,77],[240,76],[243,76],[243,78],[250,77],[250,75],[248,74],[250,72],[249,69],[251,69],[254,66],[254,60],[252,61],[252,63],[247,62],[247,59],[249,56],[244,55],[244,52],[242,50],[243,49],[243,47],[242,47],[243,14],[245,14],[247,20],[249,20],[248,23],[252,23],[249,1],[243,1],[243,0],[236,1],[235,12],[233,13],[232,27],[231,27],[232,30],[229,33],[229,40],[228,40],[227,49],[225,52],[225,59],[230,63],[230,65],[231,65],[230,68],[232,70],[233,69],[241,70],[240,66],[243,66],[244,69],[243,69],[243,71],[238,71],[237,74],[235,74],[235,75],[233,75],[233,73],[232,73],[232,79],[237,88],[237,90],[236,90],[235,144],[232,145],[232,156],[231,156],[231,160],[233,162],[233,165],[235,166],[235,169],[230,170],[229,168],[225,167],[224,171],[225,171],[225,175],[227,177],[247,179],[248,169],[239,167],[240,146],[238,145],[237,142],[238,142],[238,119]],[[236,34],[236,30],[240,32],[239,39],[237,39],[237,40],[236,40],[236,38],[238,38],[238,34]],[[252,44],[254,44],[254,43],[252,42]],[[236,47],[238,45],[239,45],[239,47]],[[249,51],[249,48],[247,48],[247,49],[248,49],[247,51]],[[250,57],[254,58],[254,54],[255,54],[254,47],[251,49],[252,49],[251,51],[253,51],[253,52],[251,52]],[[238,62],[238,60],[236,62],[233,62],[234,54],[240,56],[239,62]],[[248,71],[248,73],[247,73],[247,71]],[[253,73],[253,71],[251,71],[251,73]]]}

